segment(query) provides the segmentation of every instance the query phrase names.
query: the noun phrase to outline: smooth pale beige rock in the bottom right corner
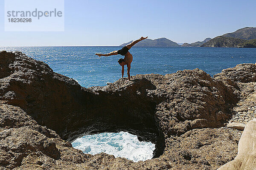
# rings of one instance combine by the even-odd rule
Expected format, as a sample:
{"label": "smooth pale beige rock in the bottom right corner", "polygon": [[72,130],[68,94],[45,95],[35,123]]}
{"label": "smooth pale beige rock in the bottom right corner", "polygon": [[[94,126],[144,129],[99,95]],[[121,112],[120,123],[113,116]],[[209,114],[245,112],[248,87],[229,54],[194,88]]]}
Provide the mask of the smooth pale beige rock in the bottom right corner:
{"label": "smooth pale beige rock in the bottom right corner", "polygon": [[218,170],[255,170],[256,169],[256,119],[247,123],[238,144],[238,153],[234,160],[224,164]]}

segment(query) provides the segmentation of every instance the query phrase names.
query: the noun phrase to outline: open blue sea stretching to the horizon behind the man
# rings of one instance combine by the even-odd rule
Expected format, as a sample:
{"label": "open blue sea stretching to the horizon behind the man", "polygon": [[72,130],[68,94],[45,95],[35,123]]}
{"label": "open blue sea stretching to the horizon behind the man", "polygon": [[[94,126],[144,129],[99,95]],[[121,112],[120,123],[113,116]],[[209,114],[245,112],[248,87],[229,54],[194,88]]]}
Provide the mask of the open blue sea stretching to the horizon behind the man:
{"label": "open blue sea stretching to the horizon behind the man", "polygon": [[[104,86],[121,77],[117,60],[123,56],[97,57],[120,47],[0,47],[22,51],[46,62],[55,72],[75,79],[83,87]],[[240,63],[255,63],[255,48],[133,47],[131,75],[167,74],[200,68],[213,76]],[[126,68],[125,68],[126,70]],[[125,71],[126,75],[126,71]],[[126,75],[127,77],[127,75]]]}

